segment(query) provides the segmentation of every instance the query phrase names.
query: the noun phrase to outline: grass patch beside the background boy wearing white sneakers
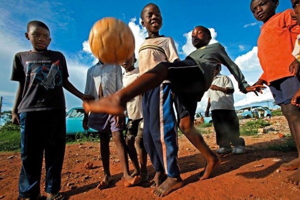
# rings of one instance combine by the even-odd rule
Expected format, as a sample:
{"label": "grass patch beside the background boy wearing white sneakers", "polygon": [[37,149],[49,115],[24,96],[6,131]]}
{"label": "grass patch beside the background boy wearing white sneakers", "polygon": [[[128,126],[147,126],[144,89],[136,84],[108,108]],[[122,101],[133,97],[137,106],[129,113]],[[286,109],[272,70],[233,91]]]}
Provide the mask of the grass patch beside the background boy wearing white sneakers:
{"label": "grass patch beside the background boy wearing white sneakers", "polygon": [[258,129],[270,126],[269,122],[258,119],[255,121],[246,122],[245,125],[240,127],[240,135],[255,136],[258,133]]}

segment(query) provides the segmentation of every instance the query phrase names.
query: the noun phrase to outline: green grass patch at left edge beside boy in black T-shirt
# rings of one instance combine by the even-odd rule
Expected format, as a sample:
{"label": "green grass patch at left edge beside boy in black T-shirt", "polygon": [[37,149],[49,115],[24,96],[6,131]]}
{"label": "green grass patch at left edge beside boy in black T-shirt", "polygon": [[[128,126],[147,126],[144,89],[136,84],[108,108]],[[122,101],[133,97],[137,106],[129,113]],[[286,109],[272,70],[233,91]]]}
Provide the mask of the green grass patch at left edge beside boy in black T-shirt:
{"label": "green grass patch at left edge beside boy in black T-shirt", "polygon": [[0,151],[18,151],[21,146],[19,131],[0,131]]}

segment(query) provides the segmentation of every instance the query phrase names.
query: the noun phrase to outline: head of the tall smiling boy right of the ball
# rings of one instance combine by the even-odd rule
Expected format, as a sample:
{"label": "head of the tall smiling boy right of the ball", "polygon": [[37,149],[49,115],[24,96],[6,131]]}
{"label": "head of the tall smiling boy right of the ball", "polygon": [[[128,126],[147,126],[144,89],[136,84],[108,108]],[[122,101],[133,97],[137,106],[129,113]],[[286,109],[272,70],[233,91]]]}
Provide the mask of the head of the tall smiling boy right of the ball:
{"label": "head of the tall smiling boy right of the ball", "polygon": [[146,27],[149,37],[158,36],[163,26],[163,18],[159,7],[148,4],[142,11],[142,26]]}

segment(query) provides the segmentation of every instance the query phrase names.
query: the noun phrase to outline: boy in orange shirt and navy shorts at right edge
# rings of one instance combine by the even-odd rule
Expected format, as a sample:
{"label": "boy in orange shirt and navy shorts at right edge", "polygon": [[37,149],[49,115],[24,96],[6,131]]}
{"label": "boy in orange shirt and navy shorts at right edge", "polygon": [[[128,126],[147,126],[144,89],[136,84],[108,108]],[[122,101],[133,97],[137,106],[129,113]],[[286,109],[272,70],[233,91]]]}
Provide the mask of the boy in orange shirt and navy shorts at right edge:
{"label": "boy in orange shirt and navy shorts at right edge", "polygon": [[[293,2],[293,1],[292,1]],[[291,104],[293,95],[299,89],[298,74],[294,69],[300,63],[292,55],[300,27],[292,19],[293,10],[288,9],[275,14],[279,0],[251,0],[250,9],[258,21],[264,24],[257,41],[258,58],[263,74],[255,84],[267,84],[275,102],[281,107],[300,155],[300,110]],[[290,183],[300,181],[300,157],[284,163],[283,170],[297,170],[287,178]]]}

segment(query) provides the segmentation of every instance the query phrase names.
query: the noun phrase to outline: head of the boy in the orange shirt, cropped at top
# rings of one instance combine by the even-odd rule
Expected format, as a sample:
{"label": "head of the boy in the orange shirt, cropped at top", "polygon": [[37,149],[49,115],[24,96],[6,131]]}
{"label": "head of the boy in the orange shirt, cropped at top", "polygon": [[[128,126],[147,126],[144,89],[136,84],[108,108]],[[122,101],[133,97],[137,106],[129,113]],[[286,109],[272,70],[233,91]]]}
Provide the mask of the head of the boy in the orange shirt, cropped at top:
{"label": "head of the boy in the orange shirt, cropped at top", "polygon": [[252,0],[250,9],[256,20],[266,23],[275,15],[278,3],[278,0]]}

